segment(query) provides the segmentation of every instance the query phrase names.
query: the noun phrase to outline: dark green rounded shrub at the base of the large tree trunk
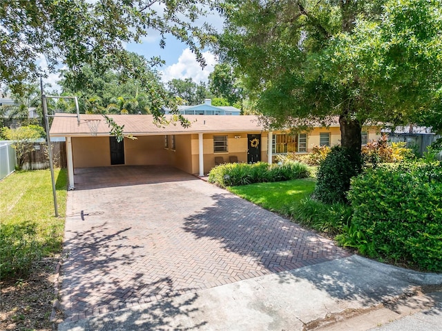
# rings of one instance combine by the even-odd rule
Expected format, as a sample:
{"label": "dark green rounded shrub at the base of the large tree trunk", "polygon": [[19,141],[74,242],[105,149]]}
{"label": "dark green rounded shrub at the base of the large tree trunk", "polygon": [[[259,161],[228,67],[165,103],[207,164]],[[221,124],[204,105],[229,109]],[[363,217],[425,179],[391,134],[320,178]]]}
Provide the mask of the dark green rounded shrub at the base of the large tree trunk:
{"label": "dark green rounded shrub at the base of the large tree trunk", "polygon": [[320,163],[314,197],[324,203],[344,203],[350,179],[361,172],[361,156],[349,148],[335,146]]}

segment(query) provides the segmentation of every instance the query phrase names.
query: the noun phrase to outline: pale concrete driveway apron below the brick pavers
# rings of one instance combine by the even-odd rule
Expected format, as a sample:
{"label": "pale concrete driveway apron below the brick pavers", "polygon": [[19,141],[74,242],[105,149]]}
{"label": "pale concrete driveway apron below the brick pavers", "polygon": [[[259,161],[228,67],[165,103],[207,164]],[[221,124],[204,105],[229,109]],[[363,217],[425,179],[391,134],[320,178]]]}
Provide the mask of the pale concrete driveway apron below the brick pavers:
{"label": "pale concrete driveway apron below the brick pavers", "polygon": [[[437,296],[414,294],[418,285],[441,284],[442,274],[354,255],[61,323],[58,330],[369,330],[437,307]],[[376,314],[386,307],[390,314]],[[437,312],[431,318],[442,325]]]}

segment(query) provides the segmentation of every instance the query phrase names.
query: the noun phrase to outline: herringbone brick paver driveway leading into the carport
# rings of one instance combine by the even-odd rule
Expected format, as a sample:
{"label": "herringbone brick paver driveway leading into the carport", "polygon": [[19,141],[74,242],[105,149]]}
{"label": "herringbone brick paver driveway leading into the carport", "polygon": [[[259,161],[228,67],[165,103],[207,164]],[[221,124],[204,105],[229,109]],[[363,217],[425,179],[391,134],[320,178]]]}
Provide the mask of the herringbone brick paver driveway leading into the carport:
{"label": "herringbone brick paver driveway leading into the carport", "polygon": [[348,256],[179,170],[77,172],[61,268],[65,321]]}

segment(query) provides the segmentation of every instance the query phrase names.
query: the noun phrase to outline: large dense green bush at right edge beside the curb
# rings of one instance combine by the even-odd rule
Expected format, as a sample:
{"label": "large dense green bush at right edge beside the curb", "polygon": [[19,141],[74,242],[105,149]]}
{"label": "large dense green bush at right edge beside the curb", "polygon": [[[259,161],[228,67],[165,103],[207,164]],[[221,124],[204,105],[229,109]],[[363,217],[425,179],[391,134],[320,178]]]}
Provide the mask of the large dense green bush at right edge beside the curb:
{"label": "large dense green bush at right edge beside the curb", "polygon": [[400,163],[352,180],[352,226],[340,242],[369,257],[442,270],[442,165]]}

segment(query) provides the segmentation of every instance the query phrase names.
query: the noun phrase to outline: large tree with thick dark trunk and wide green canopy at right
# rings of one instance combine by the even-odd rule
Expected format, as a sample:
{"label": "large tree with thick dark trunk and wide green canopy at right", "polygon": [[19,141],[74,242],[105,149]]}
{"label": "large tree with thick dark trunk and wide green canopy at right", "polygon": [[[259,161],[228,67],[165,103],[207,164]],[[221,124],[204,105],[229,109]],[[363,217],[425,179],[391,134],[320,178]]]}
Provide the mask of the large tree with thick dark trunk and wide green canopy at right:
{"label": "large tree with thick dark trunk and wide green canopy at right", "polygon": [[218,52],[273,126],[339,117],[342,146],[358,152],[364,124],[440,114],[440,1],[229,2]]}

